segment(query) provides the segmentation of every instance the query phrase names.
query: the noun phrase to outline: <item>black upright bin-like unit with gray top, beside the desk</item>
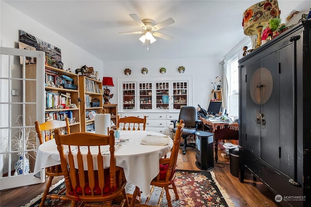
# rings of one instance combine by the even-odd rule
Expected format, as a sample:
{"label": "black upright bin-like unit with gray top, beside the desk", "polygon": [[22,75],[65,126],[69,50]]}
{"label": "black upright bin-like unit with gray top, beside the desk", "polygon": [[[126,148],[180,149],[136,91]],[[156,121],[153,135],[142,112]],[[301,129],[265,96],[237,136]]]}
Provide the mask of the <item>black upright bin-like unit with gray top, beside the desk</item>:
{"label": "black upright bin-like unit with gray top, beside the desk", "polygon": [[200,170],[209,170],[214,167],[214,134],[196,131],[195,136],[195,165]]}

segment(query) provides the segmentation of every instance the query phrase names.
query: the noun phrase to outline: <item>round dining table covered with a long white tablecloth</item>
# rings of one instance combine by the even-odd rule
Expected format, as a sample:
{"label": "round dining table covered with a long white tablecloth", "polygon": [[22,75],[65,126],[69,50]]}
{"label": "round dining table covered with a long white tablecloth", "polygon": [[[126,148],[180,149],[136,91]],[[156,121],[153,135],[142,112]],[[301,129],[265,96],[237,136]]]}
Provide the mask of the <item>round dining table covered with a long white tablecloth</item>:
{"label": "round dining table covered with a long white tablecloth", "polygon": [[[172,149],[173,140],[169,136],[152,131],[120,130],[119,132],[121,142],[116,142],[115,145],[116,166],[124,169],[127,182],[134,184],[142,193],[148,195],[150,183],[159,173],[159,159]],[[155,139],[155,142],[142,142],[148,137],[159,139]],[[168,139],[168,141],[157,143],[157,140],[161,139]],[[64,146],[65,153],[66,147]],[[102,146],[101,152],[104,155],[104,167],[109,167],[108,146]],[[40,144],[35,159],[34,175],[40,178],[40,175],[43,175],[42,169],[58,164],[60,164],[60,156],[55,140]]]}

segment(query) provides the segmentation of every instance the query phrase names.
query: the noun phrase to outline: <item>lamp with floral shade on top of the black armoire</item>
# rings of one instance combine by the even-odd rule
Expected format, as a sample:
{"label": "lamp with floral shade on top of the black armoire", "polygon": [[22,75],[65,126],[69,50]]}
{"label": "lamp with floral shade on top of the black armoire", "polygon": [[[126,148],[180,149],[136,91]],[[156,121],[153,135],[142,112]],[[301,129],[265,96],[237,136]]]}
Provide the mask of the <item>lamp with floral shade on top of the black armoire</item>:
{"label": "lamp with floral shade on top of the black armoire", "polygon": [[245,10],[242,21],[244,34],[258,35],[255,48],[261,45],[262,27],[267,25],[270,19],[279,18],[279,16],[277,0],[264,0]]}

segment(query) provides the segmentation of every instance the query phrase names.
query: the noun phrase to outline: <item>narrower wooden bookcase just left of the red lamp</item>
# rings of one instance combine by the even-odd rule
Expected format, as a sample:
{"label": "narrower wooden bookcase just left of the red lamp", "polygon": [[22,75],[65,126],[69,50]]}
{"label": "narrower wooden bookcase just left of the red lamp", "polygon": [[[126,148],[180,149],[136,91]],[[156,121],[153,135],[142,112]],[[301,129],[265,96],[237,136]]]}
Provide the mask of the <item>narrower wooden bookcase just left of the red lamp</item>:
{"label": "narrower wooden bookcase just left of the red lamp", "polygon": [[94,114],[103,113],[102,81],[79,76],[81,131],[94,131]]}

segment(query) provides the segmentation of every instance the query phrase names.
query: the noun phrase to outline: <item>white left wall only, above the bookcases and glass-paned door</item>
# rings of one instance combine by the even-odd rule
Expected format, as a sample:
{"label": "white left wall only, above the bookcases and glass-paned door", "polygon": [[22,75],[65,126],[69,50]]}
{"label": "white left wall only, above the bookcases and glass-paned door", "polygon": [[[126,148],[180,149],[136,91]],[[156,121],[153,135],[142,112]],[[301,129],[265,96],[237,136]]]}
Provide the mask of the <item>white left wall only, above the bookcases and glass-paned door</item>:
{"label": "white left wall only, above the bookcases and glass-paned door", "polygon": [[[51,24],[57,24],[57,22],[51,20]],[[48,29],[34,19],[25,16],[23,13],[0,1],[0,46],[18,48],[18,30],[28,32],[36,38],[60,48],[64,69],[71,68],[71,71],[74,71],[86,64],[88,67],[94,67],[94,70],[99,71],[100,75],[103,74],[103,61],[60,36],[57,34],[57,31]]]}

